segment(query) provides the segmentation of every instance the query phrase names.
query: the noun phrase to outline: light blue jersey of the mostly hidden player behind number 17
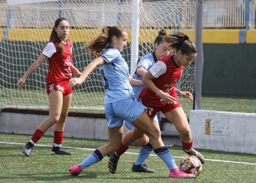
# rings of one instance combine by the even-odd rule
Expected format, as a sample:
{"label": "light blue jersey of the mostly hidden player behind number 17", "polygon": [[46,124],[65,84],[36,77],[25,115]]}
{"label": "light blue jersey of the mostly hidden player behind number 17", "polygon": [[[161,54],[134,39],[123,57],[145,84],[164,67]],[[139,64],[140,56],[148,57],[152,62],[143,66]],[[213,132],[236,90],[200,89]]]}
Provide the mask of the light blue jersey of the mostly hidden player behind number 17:
{"label": "light blue jersey of the mostly hidden player behind number 17", "polygon": [[[155,62],[157,62],[157,57],[155,56],[155,52],[149,53],[140,59],[136,70],[139,67],[143,67],[148,71],[155,64]],[[136,72],[133,74],[133,78],[136,80],[142,80],[142,77],[137,75]],[[133,91],[136,99],[139,98],[140,92],[143,88],[145,88],[145,86],[133,86]]]}

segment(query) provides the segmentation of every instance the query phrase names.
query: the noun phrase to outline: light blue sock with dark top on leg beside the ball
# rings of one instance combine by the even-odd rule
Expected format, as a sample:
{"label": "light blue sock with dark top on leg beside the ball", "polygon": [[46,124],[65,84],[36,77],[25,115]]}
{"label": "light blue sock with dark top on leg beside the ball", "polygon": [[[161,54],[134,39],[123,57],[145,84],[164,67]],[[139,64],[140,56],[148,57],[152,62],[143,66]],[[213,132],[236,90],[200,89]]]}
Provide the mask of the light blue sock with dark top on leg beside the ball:
{"label": "light blue sock with dark top on leg beside the ball", "polygon": [[157,156],[159,156],[165,162],[165,164],[168,166],[169,169],[173,169],[177,167],[177,165],[174,162],[174,159],[172,158],[172,154],[168,149],[168,147],[166,147],[166,145],[163,147],[154,149],[154,152],[155,154],[157,154]]}

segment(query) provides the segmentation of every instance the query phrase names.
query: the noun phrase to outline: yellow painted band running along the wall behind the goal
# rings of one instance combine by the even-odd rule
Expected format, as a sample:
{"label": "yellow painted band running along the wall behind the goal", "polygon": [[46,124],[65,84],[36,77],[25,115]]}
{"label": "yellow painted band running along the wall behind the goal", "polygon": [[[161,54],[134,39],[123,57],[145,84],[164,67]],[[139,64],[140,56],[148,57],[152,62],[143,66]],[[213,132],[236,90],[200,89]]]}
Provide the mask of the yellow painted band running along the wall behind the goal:
{"label": "yellow painted band running along the wall behind the goal", "polygon": [[[3,29],[1,28],[2,32]],[[8,40],[12,41],[49,41],[50,33],[52,29],[26,29],[26,28],[10,28],[8,30]],[[140,29],[139,42],[154,42],[158,31]],[[181,30],[190,37],[195,35],[194,30]],[[101,29],[71,29],[68,39],[73,42],[88,42],[93,37],[97,36],[101,32]],[[142,32],[144,32],[142,34]],[[127,30],[128,41],[131,42],[131,30]],[[167,34],[171,34],[171,30]],[[239,29],[203,29],[203,43],[239,43]],[[3,34],[0,34],[0,40],[3,40]],[[195,41],[195,40],[193,40]],[[256,43],[256,30],[245,31],[246,43]]]}

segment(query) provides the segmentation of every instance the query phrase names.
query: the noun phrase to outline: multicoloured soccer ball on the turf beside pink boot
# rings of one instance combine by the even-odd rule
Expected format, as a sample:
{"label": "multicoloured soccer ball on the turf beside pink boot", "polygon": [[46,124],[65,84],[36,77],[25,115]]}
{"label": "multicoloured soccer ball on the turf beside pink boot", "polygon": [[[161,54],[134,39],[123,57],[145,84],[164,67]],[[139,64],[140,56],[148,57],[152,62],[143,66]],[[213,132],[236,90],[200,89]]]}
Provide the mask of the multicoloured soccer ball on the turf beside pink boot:
{"label": "multicoloured soccer ball on the turf beside pink boot", "polygon": [[200,174],[202,168],[201,161],[195,156],[186,156],[180,161],[180,169],[195,176]]}

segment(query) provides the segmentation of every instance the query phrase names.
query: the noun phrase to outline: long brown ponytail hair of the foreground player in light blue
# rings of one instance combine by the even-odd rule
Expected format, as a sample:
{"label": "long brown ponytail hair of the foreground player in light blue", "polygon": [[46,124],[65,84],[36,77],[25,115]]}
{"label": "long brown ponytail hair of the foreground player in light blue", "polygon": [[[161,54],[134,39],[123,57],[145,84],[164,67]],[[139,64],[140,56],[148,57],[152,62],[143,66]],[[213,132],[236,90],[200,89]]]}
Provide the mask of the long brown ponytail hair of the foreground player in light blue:
{"label": "long brown ponytail hair of the foreground player in light blue", "polygon": [[91,56],[98,58],[102,49],[106,48],[108,43],[112,41],[112,37],[119,38],[123,32],[125,32],[125,29],[119,26],[104,26],[99,36],[88,43],[84,43],[82,49],[89,49]]}

